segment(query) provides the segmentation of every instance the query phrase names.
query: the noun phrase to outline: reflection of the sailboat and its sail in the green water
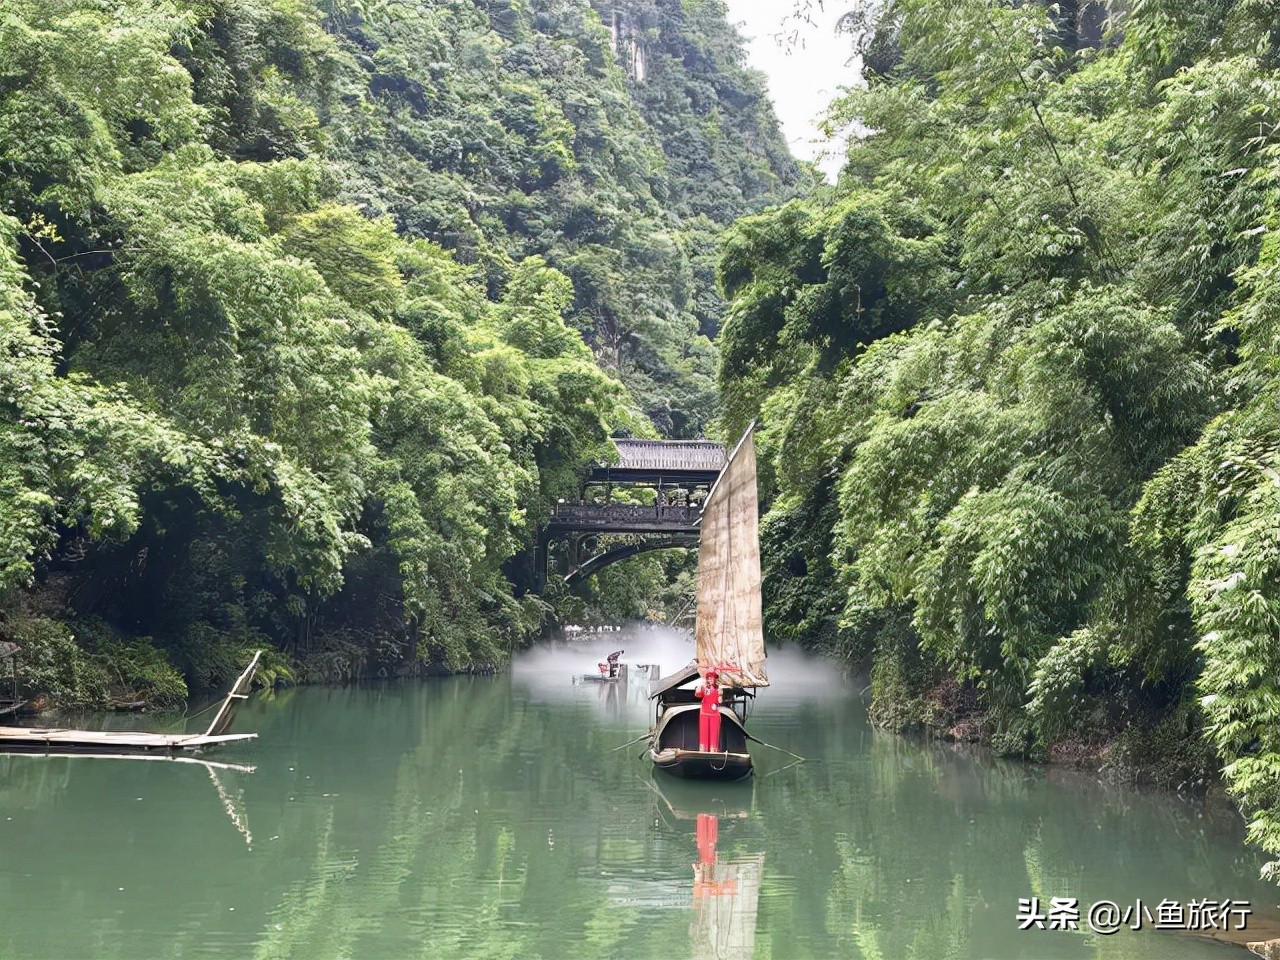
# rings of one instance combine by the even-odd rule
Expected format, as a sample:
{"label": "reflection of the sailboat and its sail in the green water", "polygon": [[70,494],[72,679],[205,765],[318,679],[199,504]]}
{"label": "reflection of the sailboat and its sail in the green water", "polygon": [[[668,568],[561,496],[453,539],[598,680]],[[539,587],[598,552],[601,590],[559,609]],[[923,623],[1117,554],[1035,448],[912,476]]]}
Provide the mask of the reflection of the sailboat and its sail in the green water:
{"label": "reflection of the sailboat and its sail in the green water", "polygon": [[754,788],[745,783],[686,783],[658,774],[654,790],[659,815],[677,829],[694,824],[698,860],[692,864],[692,910],[689,927],[695,960],[750,960],[755,955],[755,923],[760,902],[764,854],[723,854],[721,820],[727,827],[750,819]]}

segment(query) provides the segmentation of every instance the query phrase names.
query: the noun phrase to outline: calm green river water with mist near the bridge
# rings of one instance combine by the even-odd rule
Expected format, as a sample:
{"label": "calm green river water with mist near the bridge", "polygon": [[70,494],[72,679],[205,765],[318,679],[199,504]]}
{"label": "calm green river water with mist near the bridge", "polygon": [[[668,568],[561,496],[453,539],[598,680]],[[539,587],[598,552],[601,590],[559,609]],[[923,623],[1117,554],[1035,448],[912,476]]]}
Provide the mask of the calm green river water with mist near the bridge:
{"label": "calm green river water with mist near the bridge", "polygon": [[[640,632],[512,675],[255,698],[198,764],[0,756],[0,957],[1245,957],[1185,934],[1019,931],[1020,897],[1251,900],[1238,822],[1161,794],[870,730],[785,652],[754,783],[655,781],[640,691],[570,681]],[[648,649],[646,649],[648,648]],[[695,899],[698,813],[718,878]],[[758,879],[756,879],[758,878]],[[717,946],[712,946],[717,945]]]}

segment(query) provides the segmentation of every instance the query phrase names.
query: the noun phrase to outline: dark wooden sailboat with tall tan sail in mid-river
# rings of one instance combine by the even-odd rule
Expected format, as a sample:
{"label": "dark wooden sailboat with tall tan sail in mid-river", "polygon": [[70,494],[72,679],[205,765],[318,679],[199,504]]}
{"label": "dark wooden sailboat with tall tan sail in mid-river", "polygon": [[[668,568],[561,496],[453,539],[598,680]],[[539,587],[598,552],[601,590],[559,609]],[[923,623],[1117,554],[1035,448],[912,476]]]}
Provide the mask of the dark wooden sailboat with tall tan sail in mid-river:
{"label": "dark wooden sailboat with tall tan sail in mid-river", "polygon": [[[654,767],[677,777],[741,780],[751,774],[746,714],[764,673],[760,535],[753,422],[703,506],[698,544],[695,659],[655,682],[649,735]],[[700,704],[690,686],[714,667],[721,677],[721,749],[699,750]]]}

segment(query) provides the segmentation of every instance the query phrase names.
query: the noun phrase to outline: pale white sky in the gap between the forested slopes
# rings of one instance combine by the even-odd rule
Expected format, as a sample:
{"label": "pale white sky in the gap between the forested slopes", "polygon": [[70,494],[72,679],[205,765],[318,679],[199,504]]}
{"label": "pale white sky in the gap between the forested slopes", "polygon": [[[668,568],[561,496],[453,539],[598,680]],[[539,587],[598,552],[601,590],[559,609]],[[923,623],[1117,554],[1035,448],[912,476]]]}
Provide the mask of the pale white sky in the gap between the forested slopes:
{"label": "pale white sky in the gap between the forested slopes", "polygon": [[[818,160],[827,179],[835,180],[840,170],[838,146],[835,156],[822,160],[833,145],[822,141],[817,120],[840,87],[860,82],[858,64],[852,61],[852,41],[836,33],[836,20],[846,4],[824,4],[814,10],[813,26],[788,22],[792,0],[726,0],[728,19],[748,41],[748,61],[769,81],[773,109],[782,123],[782,132],[791,152],[804,160]],[[783,29],[799,29],[794,44],[781,42]]]}

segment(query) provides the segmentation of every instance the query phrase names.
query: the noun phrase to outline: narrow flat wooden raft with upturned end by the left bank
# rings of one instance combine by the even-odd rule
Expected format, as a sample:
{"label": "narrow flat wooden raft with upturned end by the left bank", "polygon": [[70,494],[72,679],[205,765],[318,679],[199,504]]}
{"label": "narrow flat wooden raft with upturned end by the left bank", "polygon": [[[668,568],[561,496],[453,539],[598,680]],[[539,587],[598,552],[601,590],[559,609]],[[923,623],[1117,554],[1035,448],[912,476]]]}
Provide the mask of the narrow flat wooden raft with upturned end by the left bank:
{"label": "narrow flat wooden raft with upturned end by the left bank", "polygon": [[0,727],[0,753],[90,754],[99,756],[177,756],[201,753],[211,746],[256,740],[257,733],[228,733],[241,700],[257,671],[261,650],[223,698],[204,733],[146,733],[116,730],[63,730],[55,727]]}

